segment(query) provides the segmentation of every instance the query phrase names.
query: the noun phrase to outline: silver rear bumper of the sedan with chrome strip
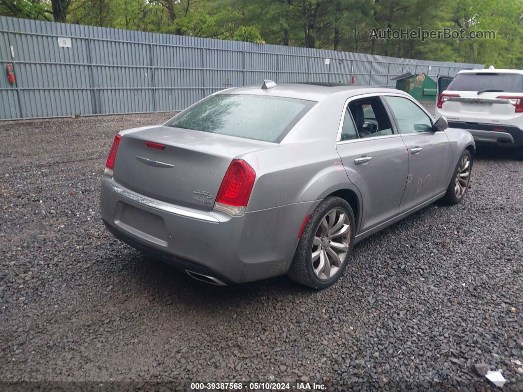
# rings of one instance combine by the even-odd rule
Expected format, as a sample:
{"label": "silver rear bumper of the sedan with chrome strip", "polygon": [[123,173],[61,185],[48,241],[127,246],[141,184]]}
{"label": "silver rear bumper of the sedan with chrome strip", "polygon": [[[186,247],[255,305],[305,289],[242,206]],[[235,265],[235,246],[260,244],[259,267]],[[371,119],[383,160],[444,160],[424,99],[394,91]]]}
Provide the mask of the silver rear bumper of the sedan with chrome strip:
{"label": "silver rear bumper of the sedan with chrome strip", "polygon": [[115,237],[224,283],[285,274],[303,219],[317,204],[296,203],[231,217],[217,210],[179,209],[146,198],[108,175],[104,175],[100,197],[101,217]]}

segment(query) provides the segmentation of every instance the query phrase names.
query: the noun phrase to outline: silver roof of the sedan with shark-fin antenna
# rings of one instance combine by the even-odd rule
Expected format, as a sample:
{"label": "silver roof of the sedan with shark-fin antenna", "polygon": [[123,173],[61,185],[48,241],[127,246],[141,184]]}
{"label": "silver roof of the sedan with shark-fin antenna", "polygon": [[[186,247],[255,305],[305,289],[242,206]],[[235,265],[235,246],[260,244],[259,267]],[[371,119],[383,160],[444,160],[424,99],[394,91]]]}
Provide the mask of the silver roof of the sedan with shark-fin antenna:
{"label": "silver roof of the sedan with shark-fin antenna", "polygon": [[[307,99],[320,102],[333,94],[345,93],[347,97],[366,94],[366,93],[383,93],[390,92],[390,88],[375,87],[375,86],[359,86],[359,85],[339,85],[334,83],[277,83],[276,87],[267,89],[261,88],[261,85],[233,87],[222,90],[217,94],[253,94],[253,95],[268,95],[275,97],[298,98]],[[394,91],[399,92],[399,91]],[[406,93],[405,93],[406,94]]]}

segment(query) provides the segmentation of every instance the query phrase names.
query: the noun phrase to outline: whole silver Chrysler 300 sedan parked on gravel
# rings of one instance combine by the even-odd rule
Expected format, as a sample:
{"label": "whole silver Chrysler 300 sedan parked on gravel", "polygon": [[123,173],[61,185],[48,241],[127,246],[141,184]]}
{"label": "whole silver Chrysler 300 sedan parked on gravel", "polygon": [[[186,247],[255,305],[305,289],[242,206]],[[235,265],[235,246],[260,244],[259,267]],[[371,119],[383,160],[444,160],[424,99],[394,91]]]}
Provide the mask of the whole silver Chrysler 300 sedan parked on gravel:
{"label": "whole silver Chrysler 300 sedan parked on gravel", "polygon": [[118,133],[101,217],[207,283],[288,274],[324,288],[358,241],[437,199],[463,199],[474,140],[447,127],[394,89],[226,89],[164,125]]}

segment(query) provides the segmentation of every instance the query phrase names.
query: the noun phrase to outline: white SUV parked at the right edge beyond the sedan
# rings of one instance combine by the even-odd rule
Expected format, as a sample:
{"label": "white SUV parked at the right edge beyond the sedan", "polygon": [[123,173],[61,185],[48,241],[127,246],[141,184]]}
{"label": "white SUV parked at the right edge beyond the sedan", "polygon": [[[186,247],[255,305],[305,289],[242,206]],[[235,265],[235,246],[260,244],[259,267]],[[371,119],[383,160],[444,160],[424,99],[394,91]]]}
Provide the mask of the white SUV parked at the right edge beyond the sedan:
{"label": "white SUV parked at the right edge beyond the sedan", "polygon": [[[449,83],[450,82],[450,83]],[[436,118],[466,129],[476,143],[523,145],[523,71],[460,71],[438,77]]]}

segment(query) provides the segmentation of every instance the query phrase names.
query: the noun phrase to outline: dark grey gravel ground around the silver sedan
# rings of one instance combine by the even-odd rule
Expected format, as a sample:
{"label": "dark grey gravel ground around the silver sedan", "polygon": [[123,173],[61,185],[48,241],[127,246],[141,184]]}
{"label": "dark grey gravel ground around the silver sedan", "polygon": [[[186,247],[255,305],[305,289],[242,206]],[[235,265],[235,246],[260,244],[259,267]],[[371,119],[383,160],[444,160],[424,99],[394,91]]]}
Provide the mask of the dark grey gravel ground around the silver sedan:
{"label": "dark grey gravel ground around the silver sedan", "polygon": [[[0,380],[314,380],[523,389],[523,161],[479,151],[463,203],[359,243],[342,279],[215,287],[99,217],[115,133],[167,114],[0,123]],[[518,384],[519,383],[519,384]]]}

